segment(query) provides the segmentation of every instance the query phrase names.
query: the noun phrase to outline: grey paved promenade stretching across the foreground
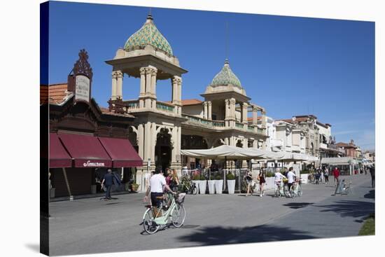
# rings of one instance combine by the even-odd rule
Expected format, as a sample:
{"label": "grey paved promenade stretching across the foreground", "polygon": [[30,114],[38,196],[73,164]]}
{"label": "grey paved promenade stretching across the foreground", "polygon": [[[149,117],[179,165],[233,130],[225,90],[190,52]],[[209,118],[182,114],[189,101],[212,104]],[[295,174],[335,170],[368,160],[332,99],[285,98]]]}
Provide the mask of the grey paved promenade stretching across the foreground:
{"label": "grey paved promenade stretching across the foreground", "polygon": [[[330,177],[332,179],[332,177]],[[213,244],[356,236],[374,212],[370,175],[351,180],[351,195],[335,195],[332,184],[303,185],[294,199],[241,195],[187,195],[181,228],[147,235],[139,225],[144,194],[50,203],[50,254],[69,255],[167,249]]]}

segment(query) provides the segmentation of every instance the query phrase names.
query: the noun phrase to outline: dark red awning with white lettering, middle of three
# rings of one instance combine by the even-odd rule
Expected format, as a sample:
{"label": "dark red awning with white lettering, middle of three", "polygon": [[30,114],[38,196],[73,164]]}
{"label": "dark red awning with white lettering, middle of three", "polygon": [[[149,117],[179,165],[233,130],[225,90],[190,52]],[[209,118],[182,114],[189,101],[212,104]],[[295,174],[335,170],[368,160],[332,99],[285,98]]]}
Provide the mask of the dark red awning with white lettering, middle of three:
{"label": "dark red awning with white lettering, middle of three", "polygon": [[112,167],[111,158],[97,137],[59,133],[59,138],[75,160],[74,167]]}

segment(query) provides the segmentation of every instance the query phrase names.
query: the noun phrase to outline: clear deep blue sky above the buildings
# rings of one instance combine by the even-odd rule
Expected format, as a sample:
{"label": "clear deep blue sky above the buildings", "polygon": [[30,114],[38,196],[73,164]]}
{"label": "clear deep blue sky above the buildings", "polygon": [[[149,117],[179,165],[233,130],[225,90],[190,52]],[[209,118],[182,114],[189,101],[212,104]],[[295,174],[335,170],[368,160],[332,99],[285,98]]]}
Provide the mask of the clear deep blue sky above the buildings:
{"label": "clear deep blue sky above the buildings", "polygon": [[[66,81],[85,48],[94,71],[92,96],[107,106],[111,60],[144,24],[148,8],[51,2],[49,83]],[[155,25],[179,57],[183,99],[202,99],[228,58],[252,102],[272,118],[314,114],[337,141],[374,148],[374,22],[153,8]],[[160,81],[158,99],[171,99]],[[139,95],[125,76],[123,98]]]}

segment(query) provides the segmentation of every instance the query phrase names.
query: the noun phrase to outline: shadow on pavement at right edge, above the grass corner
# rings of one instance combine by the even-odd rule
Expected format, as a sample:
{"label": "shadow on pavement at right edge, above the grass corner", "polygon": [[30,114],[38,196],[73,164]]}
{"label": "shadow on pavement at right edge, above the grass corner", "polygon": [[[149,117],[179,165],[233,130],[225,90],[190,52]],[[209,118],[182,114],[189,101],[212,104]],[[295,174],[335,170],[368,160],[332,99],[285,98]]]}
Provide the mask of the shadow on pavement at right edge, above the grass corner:
{"label": "shadow on pavement at right edge, above the grass corner", "polygon": [[374,202],[342,200],[335,204],[314,205],[316,207],[325,208],[321,212],[334,211],[342,217],[350,216],[360,218],[374,212]]}

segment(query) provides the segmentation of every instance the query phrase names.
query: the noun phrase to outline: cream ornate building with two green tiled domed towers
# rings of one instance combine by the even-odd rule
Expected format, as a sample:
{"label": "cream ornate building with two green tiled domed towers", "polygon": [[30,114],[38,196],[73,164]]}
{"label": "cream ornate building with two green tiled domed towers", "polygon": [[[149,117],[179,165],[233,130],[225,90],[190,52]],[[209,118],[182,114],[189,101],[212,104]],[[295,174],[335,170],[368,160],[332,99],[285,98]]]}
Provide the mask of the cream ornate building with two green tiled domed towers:
{"label": "cream ornate building with two green tiled domed towers", "polygon": [[[162,166],[180,171],[182,165],[189,165],[190,160],[181,158],[182,148],[212,148],[221,144],[266,147],[266,111],[251,102],[228,60],[201,95],[204,101],[182,100],[182,76],[187,70],[180,66],[151,15],[130,36],[125,47],[117,50],[113,60],[106,63],[112,66],[109,109],[135,117],[133,137],[144,160],[144,166],[137,169],[141,189],[144,174],[150,169]],[[124,74],[139,79],[137,99],[123,99]],[[170,81],[170,102],[157,100],[156,85],[160,80]],[[248,113],[252,113],[251,124]],[[200,164],[210,165],[210,160]]]}

